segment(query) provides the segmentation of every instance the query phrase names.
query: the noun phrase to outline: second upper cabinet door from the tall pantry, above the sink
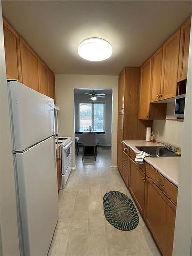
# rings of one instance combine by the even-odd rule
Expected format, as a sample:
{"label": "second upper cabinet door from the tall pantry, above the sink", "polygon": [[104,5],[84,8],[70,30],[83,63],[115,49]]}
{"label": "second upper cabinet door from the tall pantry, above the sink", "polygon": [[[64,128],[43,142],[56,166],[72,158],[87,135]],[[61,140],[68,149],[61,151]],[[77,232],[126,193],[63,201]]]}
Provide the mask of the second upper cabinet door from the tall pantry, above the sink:
{"label": "second upper cabinet door from the tall pantry, above the sink", "polygon": [[163,47],[152,56],[150,102],[160,100]]}

